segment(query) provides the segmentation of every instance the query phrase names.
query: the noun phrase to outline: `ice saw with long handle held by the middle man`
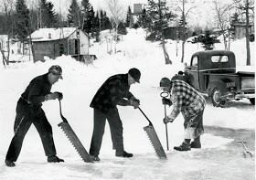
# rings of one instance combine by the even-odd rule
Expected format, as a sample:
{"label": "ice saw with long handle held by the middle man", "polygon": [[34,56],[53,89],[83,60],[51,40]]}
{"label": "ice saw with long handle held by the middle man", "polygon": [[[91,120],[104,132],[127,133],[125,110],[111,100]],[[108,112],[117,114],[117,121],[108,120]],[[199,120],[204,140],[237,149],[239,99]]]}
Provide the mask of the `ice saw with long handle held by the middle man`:
{"label": "ice saw with long handle held by the middle man", "polygon": [[[140,107],[138,107],[138,109],[144,114],[144,111],[142,111]],[[144,117],[149,122],[149,124],[144,127],[144,131],[146,132],[147,136],[149,137],[149,140],[155,149],[155,153],[157,154],[157,156],[159,158],[166,159],[167,157],[166,157],[164,148],[163,148],[161,142],[159,141],[159,138],[155,132],[155,128],[154,128],[152,122],[150,122],[150,120],[146,117],[145,114],[144,114]]]}

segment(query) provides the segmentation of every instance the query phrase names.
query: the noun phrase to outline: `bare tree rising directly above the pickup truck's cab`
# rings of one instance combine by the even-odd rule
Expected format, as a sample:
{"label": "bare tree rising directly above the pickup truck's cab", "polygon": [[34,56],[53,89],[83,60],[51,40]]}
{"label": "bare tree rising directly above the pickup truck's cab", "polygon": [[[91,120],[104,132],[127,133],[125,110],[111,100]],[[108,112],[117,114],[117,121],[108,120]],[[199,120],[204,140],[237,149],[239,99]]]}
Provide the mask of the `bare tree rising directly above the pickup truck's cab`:
{"label": "bare tree rising directly above the pickup truck's cab", "polygon": [[219,28],[223,37],[225,50],[229,50],[229,45],[228,45],[229,40],[227,39],[226,32],[227,30],[229,30],[229,24],[230,24],[229,11],[232,9],[234,4],[224,5],[223,1],[220,1],[220,0],[214,0],[213,4],[214,4],[214,10],[216,12],[217,23],[219,25]]}

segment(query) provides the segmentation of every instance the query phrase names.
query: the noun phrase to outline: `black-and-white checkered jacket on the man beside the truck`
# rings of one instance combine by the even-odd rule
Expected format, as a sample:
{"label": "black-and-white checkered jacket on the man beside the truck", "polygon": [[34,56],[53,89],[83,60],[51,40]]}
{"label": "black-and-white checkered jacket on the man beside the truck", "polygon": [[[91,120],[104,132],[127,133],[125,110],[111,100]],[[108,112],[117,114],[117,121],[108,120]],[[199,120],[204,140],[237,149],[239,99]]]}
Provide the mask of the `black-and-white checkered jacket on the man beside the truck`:
{"label": "black-and-white checkered jacket on the man beside the truck", "polygon": [[193,87],[183,80],[172,80],[171,101],[173,111],[168,115],[170,120],[175,120],[176,116],[182,112],[185,121],[193,119],[206,106],[206,100]]}

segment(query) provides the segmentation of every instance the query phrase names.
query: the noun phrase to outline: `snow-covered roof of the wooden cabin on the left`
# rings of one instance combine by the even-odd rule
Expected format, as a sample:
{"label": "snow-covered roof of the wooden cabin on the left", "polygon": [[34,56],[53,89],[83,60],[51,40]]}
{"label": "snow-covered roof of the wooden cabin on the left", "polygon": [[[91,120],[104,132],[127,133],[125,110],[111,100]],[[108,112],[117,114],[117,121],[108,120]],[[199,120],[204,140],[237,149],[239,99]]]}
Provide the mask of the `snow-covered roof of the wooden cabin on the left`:
{"label": "snow-covered roof of the wooden cabin on the left", "polygon": [[39,28],[31,34],[32,41],[51,41],[67,38],[76,31],[76,27]]}

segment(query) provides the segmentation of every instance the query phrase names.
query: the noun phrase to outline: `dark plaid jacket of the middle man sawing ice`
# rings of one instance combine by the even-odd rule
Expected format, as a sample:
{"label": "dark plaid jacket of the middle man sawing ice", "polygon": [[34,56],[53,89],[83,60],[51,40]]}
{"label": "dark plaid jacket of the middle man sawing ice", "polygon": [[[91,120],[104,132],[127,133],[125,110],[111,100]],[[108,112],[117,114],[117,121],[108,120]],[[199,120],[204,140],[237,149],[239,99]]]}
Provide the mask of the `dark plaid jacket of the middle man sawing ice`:
{"label": "dark plaid jacket of the middle man sawing ice", "polygon": [[103,113],[108,113],[116,105],[127,106],[130,104],[128,100],[135,99],[129,90],[128,74],[114,75],[101,85],[101,88],[94,95],[90,106]]}

